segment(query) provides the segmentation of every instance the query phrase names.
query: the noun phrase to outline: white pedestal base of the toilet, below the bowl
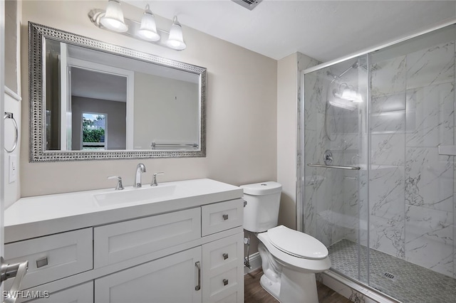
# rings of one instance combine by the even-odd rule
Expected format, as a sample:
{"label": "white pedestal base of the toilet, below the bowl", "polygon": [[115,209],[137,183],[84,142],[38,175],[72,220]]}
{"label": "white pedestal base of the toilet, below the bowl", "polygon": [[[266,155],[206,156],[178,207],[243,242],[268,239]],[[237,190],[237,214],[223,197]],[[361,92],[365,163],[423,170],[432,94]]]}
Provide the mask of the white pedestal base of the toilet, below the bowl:
{"label": "white pedestal base of the toilet, below the bowl", "polygon": [[318,303],[314,273],[298,272],[283,267],[281,278],[277,282],[262,275],[260,285],[281,303]]}

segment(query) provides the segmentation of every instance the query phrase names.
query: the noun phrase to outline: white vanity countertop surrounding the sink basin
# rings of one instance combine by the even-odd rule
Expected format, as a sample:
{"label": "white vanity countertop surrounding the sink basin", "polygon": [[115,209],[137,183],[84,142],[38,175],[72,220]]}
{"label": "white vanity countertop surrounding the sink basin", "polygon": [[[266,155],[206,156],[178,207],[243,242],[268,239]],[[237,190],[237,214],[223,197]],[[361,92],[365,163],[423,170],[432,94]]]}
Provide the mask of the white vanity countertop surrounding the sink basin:
{"label": "white vanity countertop surrounding the sink basin", "polygon": [[[5,243],[242,198],[243,195],[242,188],[211,179],[164,182],[158,186],[173,185],[185,191],[147,201],[108,205],[100,205],[95,195],[118,192],[114,188],[21,198],[4,213]],[[128,186],[122,192],[128,194],[128,191],[149,187]]]}

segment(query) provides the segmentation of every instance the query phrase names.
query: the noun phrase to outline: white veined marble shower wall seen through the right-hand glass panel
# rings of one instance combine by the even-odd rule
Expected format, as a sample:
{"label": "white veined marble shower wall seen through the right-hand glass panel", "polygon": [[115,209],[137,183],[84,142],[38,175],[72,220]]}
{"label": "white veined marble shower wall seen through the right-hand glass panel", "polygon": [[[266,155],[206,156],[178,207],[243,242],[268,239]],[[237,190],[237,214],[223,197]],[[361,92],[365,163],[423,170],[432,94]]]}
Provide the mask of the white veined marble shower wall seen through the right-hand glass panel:
{"label": "white veined marble shower wall seen through the right-hand glass panel", "polygon": [[454,85],[454,41],[371,65],[370,246],[451,277]]}

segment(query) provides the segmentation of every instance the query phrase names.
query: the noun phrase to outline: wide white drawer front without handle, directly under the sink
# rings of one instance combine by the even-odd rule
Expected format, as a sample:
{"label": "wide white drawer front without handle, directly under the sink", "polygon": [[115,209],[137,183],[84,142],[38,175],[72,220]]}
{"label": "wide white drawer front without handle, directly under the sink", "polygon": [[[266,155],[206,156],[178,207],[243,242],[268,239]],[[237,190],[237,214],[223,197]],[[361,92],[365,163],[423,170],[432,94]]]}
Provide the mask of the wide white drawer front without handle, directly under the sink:
{"label": "wide white drawer front without handle, directly under the sink", "polygon": [[122,262],[201,238],[199,208],[128,220],[93,229],[94,267]]}

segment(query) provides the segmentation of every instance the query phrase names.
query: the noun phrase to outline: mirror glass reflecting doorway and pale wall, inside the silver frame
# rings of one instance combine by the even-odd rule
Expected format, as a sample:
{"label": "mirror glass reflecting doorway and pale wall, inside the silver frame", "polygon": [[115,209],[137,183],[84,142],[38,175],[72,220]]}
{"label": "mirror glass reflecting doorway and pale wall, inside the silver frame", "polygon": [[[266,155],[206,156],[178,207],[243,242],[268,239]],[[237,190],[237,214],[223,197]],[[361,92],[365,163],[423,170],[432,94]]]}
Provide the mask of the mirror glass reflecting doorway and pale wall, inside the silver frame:
{"label": "mirror glass reflecting doorway and pale wall, inside the silver frame", "polygon": [[50,38],[46,70],[47,149],[82,149],[81,113],[100,111],[112,117],[108,150],[199,144],[199,75]]}

